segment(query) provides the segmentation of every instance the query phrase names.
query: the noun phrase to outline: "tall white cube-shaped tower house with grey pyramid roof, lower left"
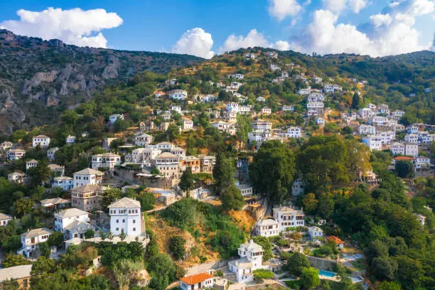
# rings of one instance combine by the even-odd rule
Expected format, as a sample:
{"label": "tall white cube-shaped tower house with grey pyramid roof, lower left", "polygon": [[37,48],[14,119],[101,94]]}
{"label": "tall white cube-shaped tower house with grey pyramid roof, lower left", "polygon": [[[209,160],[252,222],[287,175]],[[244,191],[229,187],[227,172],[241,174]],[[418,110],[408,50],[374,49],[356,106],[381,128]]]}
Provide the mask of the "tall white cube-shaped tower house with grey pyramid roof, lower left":
{"label": "tall white cube-shaped tower house with grey pyramid roof, lower left", "polygon": [[141,235],[141,203],[131,198],[121,198],[111,203],[109,208],[110,231],[114,235]]}

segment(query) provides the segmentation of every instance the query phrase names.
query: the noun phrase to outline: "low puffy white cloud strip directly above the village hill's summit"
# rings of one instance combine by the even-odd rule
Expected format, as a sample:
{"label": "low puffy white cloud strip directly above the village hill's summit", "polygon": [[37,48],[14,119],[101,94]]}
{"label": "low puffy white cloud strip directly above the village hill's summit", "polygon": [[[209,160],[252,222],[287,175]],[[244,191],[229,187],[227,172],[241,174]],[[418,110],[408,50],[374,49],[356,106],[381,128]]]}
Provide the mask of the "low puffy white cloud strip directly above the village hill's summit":
{"label": "low puffy white cloud strip directly above the village hill's summit", "polygon": [[260,46],[262,48],[275,48],[278,50],[289,50],[290,43],[287,41],[276,41],[276,43],[270,43],[263,33],[259,33],[257,29],[249,31],[247,36],[235,36],[234,34],[228,36],[224,45],[220,48],[220,52],[237,50],[239,48],[253,48],[254,46]]}

